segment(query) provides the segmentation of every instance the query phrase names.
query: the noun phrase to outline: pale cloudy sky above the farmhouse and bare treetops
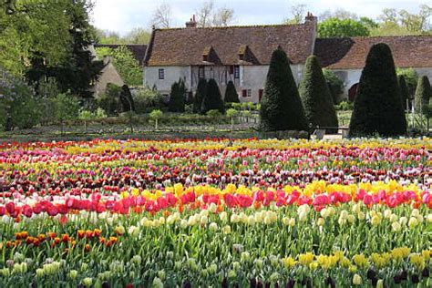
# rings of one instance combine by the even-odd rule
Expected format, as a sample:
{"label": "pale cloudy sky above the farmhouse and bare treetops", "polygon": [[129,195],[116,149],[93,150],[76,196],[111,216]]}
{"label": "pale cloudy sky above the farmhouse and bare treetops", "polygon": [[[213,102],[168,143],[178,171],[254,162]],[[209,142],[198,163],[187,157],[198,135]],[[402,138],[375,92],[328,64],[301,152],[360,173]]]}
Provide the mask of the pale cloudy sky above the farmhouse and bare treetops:
{"label": "pale cloudy sky above the farmhouse and bare treetops", "polygon": [[[184,26],[203,1],[170,0],[173,26]],[[96,0],[93,22],[101,29],[127,33],[134,27],[149,28],[151,15],[161,0]],[[320,15],[325,10],[339,8],[375,18],[383,8],[394,7],[416,13],[420,4],[432,5],[432,0],[214,0],[216,7],[234,9],[236,25],[278,24],[290,15],[290,7],[305,4]]]}

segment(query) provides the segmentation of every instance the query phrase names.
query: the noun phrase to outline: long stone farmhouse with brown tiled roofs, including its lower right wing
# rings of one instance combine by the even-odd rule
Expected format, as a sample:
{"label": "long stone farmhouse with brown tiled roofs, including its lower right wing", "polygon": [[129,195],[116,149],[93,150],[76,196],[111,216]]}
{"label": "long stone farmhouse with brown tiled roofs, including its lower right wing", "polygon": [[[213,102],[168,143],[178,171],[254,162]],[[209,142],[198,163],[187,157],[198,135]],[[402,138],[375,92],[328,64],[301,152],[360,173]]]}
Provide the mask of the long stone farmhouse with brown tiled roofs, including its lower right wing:
{"label": "long stone farmhouse with brown tiled roofs, including its lower right wing", "polygon": [[201,78],[214,78],[224,95],[229,81],[242,102],[260,102],[272,52],[280,47],[291,63],[297,83],[310,55],[345,83],[345,97],[355,97],[370,46],[384,42],[397,67],[413,67],[432,77],[432,36],[317,38],[317,18],[303,24],[273,26],[197,27],[194,18],[184,28],[153,29],[143,61],[144,85],[165,96],[180,78],[193,94]]}

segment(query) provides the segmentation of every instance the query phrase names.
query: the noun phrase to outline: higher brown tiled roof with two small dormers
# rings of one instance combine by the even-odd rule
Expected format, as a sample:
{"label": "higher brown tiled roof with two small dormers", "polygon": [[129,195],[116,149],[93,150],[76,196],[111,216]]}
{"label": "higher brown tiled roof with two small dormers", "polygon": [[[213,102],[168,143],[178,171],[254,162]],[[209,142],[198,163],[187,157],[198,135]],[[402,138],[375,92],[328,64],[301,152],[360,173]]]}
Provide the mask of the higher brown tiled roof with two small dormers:
{"label": "higher brown tiled roof with two small dormers", "polygon": [[[293,64],[303,64],[313,52],[314,36],[313,21],[301,25],[156,29],[145,65],[268,65],[278,46]],[[203,51],[210,47],[211,56],[204,62]],[[241,60],[239,54],[243,52]]]}

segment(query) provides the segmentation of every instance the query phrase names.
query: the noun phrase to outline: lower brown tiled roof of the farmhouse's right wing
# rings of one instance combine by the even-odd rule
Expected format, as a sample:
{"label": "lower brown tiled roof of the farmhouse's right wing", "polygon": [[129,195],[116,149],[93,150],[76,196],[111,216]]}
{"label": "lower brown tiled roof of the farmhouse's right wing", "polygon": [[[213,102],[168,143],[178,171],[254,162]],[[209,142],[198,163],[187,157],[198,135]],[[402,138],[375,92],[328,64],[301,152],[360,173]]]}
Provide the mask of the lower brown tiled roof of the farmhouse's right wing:
{"label": "lower brown tiled roof of the farmhouse's right wing", "polygon": [[314,54],[323,67],[361,69],[377,43],[390,46],[396,67],[432,67],[432,36],[317,38]]}

